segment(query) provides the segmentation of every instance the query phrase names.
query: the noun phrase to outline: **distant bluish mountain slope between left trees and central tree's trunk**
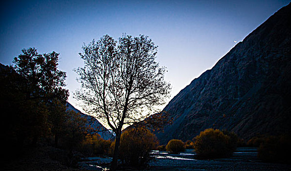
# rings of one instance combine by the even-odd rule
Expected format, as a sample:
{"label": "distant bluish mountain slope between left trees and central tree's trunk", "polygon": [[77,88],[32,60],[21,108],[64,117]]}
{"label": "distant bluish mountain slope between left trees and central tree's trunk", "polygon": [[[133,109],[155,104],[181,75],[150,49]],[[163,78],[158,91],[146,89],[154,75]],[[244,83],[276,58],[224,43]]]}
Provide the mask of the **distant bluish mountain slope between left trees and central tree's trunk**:
{"label": "distant bluish mountain slope between left trees and central tree's trunk", "polygon": [[84,117],[90,124],[91,128],[95,128],[97,130],[100,130],[98,134],[105,140],[109,140],[113,138],[113,134],[110,130],[105,128],[96,118],[93,116],[87,115],[82,113],[80,110],[73,107],[70,103],[67,102],[67,110],[74,110],[77,113],[80,113],[82,117]]}

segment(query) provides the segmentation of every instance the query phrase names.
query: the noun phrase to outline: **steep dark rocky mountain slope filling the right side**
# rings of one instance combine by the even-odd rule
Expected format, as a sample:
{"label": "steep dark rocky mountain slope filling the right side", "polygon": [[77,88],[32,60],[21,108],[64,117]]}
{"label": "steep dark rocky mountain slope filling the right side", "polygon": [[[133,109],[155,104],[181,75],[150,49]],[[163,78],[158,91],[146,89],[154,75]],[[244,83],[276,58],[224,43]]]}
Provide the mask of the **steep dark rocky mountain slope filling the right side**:
{"label": "steep dark rocky mountain slope filling the right side", "polygon": [[182,89],[164,108],[174,118],[161,144],[191,140],[206,128],[241,138],[291,128],[291,4],[233,47],[215,66]]}

